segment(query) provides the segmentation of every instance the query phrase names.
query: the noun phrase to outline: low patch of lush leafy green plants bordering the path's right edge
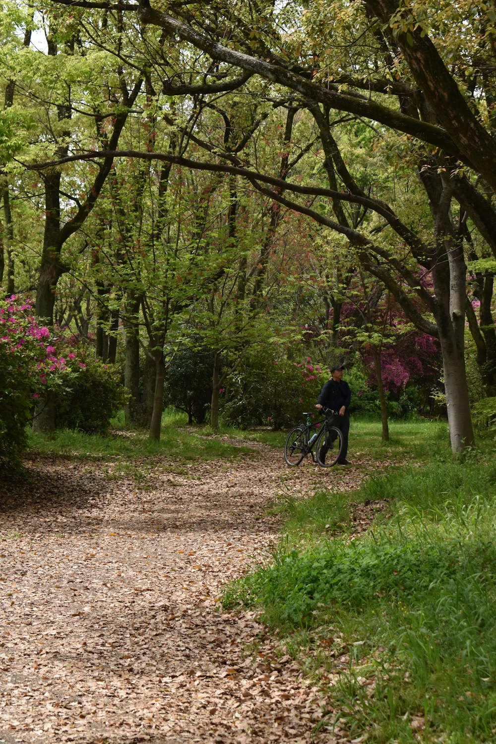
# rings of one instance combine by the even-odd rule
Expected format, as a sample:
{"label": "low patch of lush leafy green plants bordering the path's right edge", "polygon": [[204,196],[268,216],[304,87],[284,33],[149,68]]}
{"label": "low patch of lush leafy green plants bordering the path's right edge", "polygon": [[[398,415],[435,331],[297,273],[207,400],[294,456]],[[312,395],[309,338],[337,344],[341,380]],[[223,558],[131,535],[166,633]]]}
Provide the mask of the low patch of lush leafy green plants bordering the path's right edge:
{"label": "low patch of lush leafy green plants bordering the path's right edge", "polygon": [[[309,627],[323,605],[361,609],[377,596],[406,600],[427,591],[434,577],[452,578],[458,547],[457,541],[448,545],[332,540],[304,552],[278,551],[274,565],[239,583],[245,594],[238,594],[237,600],[249,605],[255,596],[265,608],[265,620]],[[496,557],[496,546],[493,552]],[[227,594],[226,602],[231,601]]]}

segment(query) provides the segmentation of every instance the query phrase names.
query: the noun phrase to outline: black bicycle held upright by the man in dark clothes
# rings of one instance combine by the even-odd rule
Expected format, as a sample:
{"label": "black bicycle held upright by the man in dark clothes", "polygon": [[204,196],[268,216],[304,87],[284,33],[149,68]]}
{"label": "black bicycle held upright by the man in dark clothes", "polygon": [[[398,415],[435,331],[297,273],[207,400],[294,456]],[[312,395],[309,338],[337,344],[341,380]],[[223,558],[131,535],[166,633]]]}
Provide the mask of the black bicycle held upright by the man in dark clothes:
{"label": "black bicycle held upright by the man in dark clothes", "polygon": [[[338,411],[332,411],[331,408],[322,408],[329,414],[338,416]],[[306,423],[303,421],[289,432],[286,442],[284,443],[284,459],[289,466],[299,465],[303,458],[312,455],[312,461],[317,462],[321,467],[332,467],[335,465],[343,451],[343,434],[337,426],[329,426],[327,419],[312,421],[312,412],[305,411]],[[326,455],[326,461],[321,460],[320,452],[324,440],[327,440],[329,449]]]}

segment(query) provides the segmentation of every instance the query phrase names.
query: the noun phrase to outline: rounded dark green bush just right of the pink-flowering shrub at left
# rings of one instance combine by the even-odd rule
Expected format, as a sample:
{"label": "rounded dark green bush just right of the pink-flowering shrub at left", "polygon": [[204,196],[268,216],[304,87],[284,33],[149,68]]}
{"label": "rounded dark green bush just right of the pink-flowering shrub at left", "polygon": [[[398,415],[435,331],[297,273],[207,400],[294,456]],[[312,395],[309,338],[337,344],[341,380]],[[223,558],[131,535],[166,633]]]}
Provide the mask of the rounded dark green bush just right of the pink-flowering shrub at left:
{"label": "rounded dark green bush just right of the pink-flowering shrub at left", "polygon": [[104,365],[94,349],[82,344],[77,347],[77,355],[67,354],[66,364],[71,382],[54,397],[57,429],[105,432],[112,417],[126,403],[120,369]]}

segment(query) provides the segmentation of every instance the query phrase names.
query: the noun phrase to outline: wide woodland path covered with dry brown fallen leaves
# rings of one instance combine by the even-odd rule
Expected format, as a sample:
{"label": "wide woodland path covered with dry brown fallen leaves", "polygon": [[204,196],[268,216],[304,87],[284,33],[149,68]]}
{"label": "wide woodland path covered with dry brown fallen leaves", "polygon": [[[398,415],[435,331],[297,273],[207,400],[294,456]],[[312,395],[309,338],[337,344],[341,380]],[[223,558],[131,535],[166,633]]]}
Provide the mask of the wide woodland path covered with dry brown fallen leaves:
{"label": "wide woodland path covered with dry brown fallen leaves", "polygon": [[[0,743],[348,741],[312,734],[318,688],[218,600],[270,556],[277,494],[352,490],[380,464],[290,469],[253,450],[161,458],[139,488],[109,458],[33,455],[28,482],[0,481]],[[372,516],[355,507],[356,530]]]}

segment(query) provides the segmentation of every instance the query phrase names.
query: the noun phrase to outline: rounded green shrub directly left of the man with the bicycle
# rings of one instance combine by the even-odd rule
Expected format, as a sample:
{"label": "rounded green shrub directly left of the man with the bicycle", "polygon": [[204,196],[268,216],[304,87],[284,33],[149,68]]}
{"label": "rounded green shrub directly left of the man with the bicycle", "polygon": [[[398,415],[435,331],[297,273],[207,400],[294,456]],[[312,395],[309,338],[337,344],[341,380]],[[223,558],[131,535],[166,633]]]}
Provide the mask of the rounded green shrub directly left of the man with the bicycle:
{"label": "rounded green shrub directly left of the man with the bicycle", "polygon": [[329,372],[307,357],[289,362],[273,347],[254,347],[226,383],[222,420],[231,426],[270,425],[274,429],[300,420],[315,402]]}

